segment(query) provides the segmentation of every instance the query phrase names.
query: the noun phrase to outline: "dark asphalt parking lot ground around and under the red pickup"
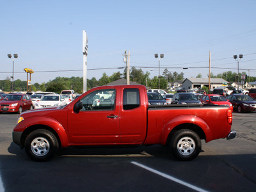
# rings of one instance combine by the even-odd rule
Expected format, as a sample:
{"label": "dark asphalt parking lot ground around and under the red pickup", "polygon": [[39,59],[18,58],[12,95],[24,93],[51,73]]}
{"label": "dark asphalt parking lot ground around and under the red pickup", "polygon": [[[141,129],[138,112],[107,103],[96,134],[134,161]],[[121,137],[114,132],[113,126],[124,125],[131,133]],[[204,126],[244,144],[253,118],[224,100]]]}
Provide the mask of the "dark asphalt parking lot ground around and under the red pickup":
{"label": "dark asphalt parking lot ground around and under the red pickup", "polygon": [[31,161],[12,143],[17,114],[1,114],[0,191],[255,191],[256,113],[233,113],[234,140],[202,141],[193,161],[160,145],[68,148]]}

